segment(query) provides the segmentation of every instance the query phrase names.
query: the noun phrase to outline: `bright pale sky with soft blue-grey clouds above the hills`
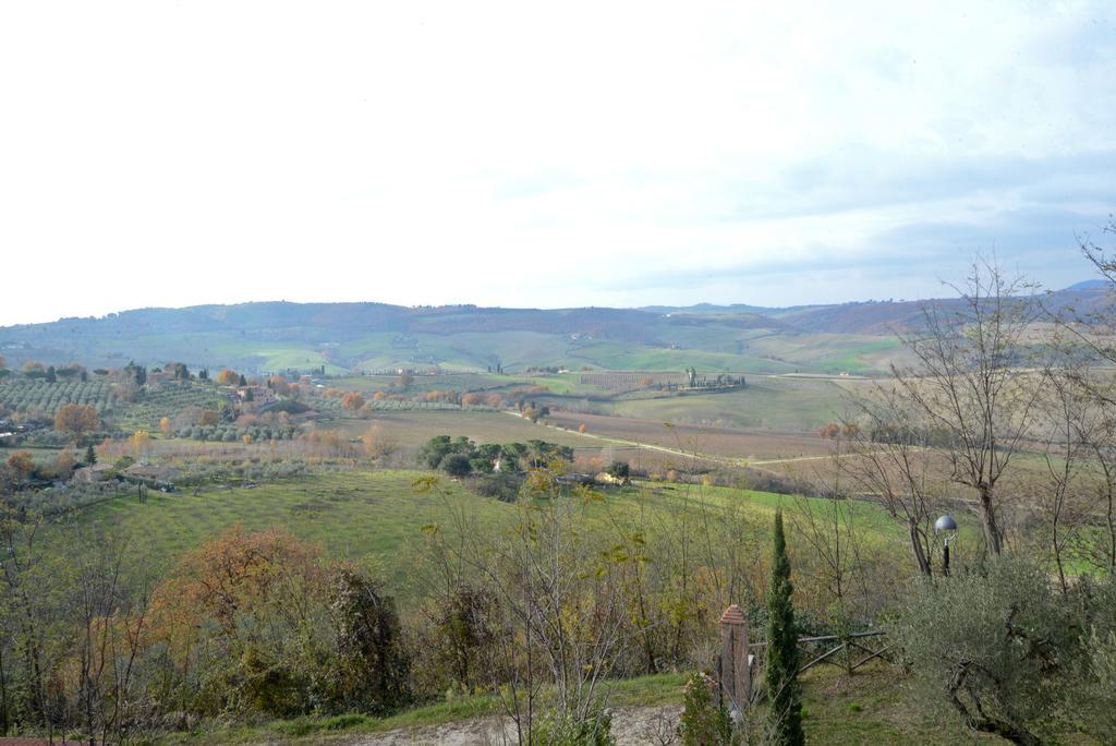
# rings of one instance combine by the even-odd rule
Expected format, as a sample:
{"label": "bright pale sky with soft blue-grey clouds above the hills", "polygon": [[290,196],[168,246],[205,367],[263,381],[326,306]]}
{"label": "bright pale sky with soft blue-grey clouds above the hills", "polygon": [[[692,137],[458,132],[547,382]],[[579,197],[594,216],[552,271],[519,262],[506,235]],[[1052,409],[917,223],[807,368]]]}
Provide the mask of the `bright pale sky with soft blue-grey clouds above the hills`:
{"label": "bright pale sky with soft blue-grey clouds above the hills", "polygon": [[1064,287],[1114,80],[1110,0],[7,2],[0,325]]}

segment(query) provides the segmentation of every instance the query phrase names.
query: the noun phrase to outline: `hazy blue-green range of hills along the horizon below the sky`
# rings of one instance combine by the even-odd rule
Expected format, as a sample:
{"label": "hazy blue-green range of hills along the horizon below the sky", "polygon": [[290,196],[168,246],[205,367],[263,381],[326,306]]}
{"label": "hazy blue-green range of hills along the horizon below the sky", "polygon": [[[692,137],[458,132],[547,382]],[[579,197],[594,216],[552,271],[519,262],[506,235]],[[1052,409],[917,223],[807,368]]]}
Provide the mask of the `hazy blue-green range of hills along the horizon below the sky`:
{"label": "hazy blue-green range of hills along the horizon below the sky", "polygon": [[[1048,294],[1051,307],[1107,304],[1101,280]],[[253,372],[398,369],[872,373],[901,353],[897,332],[923,308],[958,299],[766,308],[734,304],[644,308],[404,307],[378,303],[244,303],[141,308],[102,318],[0,327],[0,355],[87,365],[181,361]]]}

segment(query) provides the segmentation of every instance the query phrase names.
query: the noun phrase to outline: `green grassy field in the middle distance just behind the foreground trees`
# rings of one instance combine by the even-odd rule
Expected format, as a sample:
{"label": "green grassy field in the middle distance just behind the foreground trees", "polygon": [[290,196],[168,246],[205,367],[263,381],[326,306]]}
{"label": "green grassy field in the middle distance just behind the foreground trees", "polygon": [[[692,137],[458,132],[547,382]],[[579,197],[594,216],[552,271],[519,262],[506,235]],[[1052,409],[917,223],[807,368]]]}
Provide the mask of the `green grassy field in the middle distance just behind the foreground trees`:
{"label": "green grassy field in the middle distance just behind the foreground trees", "polygon": [[[127,494],[86,508],[83,519],[135,537],[136,548],[161,566],[232,526],[282,526],[320,545],[330,557],[379,557],[392,584],[402,587],[407,575],[404,549],[420,538],[420,527],[445,519],[444,500],[466,500],[470,514],[493,529],[514,515],[513,506],[480,497],[444,477],[443,495],[416,492],[412,485],[424,474],[429,472],[323,471],[256,488],[211,489],[196,496],[189,491],[152,491],[144,504]],[[718,513],[733,505],[766,526],[775,508],[788,500],[786,496],[750,490],[652,484],[609,491],[604,504],[591,508],[590,517],[607,522],[634,515],[636,508],[655,513],[680,505]],[[802,504],[819,509],[826,501]],[[874,542],[902,548],[902,533],[878,507],[857,504],[855,511]]]}

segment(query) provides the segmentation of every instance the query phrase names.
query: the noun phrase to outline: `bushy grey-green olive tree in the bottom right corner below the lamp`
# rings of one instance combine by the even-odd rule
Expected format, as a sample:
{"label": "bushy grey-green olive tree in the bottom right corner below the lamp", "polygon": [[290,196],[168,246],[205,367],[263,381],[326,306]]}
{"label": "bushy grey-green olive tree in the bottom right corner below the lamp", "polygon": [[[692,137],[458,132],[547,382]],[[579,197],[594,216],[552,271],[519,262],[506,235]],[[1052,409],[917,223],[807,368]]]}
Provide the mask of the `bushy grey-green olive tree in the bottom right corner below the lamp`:
{"label": "bushy grey-green olive tree in the bottom right corner below the lamp", "polygon": [[1002,556],[981,572],[923,581],[893,627],[914,673],[915,702],[937,718],[1038,744],[1059,726],[1116,737],[1112,635],[1116,585],[1068,594],[1031,563]]}

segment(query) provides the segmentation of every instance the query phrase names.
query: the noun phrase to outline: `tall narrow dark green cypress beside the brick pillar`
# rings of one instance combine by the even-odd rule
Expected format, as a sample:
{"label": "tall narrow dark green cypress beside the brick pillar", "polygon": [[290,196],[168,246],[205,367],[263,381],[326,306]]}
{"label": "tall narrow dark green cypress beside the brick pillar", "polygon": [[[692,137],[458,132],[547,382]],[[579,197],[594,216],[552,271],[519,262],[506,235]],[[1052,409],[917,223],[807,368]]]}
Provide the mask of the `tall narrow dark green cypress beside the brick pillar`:
{"label": "tall narrow dark green cypress beside the brick pillar", "polygon": [[768,716],[775,743],[798,746],[802,734],[802,702],[798,683],[798,630],[790,594],[790,560],[782,528],[782,510],[775,514],[775,552],[771,562],[771,587],[768,591]]}

